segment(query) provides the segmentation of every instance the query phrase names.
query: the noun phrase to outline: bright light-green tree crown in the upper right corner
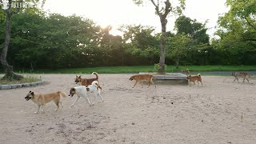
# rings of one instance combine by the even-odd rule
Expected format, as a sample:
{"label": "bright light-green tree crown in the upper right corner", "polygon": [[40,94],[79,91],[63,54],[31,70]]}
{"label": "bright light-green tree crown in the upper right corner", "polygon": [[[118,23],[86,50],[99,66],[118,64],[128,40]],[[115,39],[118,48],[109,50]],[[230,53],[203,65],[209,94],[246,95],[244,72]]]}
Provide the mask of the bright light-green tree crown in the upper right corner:
{"label": "bright light-green tree crown in the upper right corner", "polygon": [[218,18],[220,46],[233,53],[255,51],[256,47],[256,0],[227,0],[230,10]]}

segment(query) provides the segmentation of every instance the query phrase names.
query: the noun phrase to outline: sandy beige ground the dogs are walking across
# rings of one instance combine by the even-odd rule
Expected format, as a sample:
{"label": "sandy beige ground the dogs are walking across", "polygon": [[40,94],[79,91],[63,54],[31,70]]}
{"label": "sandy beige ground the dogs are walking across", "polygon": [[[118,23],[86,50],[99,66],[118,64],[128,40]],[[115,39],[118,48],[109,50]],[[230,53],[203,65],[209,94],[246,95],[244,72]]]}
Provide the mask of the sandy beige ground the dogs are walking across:
{"label": "sandy beige ground the dogs are walking across", "polygon": [[[42,74],[44,86],[0,90],[0,143],[256,143],[256,79],[202,76],[204,86],[139,85],[132,74],[99,74],[105,102],[63,98],[64,108],[34,114],[26,94],[63,90],[75,74]],[[82,78],[92,78],[83,74]],[[94,97],[90,94],[90,100]]]}

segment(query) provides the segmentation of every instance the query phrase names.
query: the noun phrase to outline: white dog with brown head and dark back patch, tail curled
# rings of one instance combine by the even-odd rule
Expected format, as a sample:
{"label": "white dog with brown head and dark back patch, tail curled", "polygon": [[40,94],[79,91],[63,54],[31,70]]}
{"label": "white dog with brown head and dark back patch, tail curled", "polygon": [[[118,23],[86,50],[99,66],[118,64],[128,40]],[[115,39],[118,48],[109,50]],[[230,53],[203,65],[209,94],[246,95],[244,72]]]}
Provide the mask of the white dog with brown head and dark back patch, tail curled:
{"label": "white dog with brown head and dark back patch, tail curled", "polygon": [[[69,96],[73,97],[74,94],[77,94],[78,97],[75,99],[75,101],[71,105],[71,107],[73,107],[78,102],[78,99],[80,97],[86,98],[86,100],[90,104],[90,106],[93,106],[94,104],[90,103],[90,100],[89,100],[89,97],[88,97],[88,94],[87,94],[88,92],[94,93],[94,103],[96,102],[97,96],[102,98],[101,90],[99,89],[99,86],[98,86],[98,81],[92,82],[91,85],[89,85],[89,86],[76,86],[76,87],[72,87],[70,89]],[[102,102],[104,102],[103,98],[102,98]]]}

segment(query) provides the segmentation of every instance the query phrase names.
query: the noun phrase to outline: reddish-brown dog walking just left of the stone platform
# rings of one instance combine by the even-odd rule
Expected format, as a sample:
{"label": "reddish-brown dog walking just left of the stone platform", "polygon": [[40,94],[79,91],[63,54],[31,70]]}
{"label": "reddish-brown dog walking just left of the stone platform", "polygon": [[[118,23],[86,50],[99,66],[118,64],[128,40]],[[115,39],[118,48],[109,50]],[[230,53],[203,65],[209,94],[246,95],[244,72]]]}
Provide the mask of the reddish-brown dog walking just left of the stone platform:
{"label": "reddish-brown dog walking just left of the stone platform", "polygon": [[[138,82],[141,82],[141,85],[142,85],[142,82],[146,81],[146,82],[148,82],[148,86],[147,87],[150,87],[150,83],[154,84],[153,79],[155,79],[155,78],[151,74],[137,74],[137,75],[131,76],[129,80],[130,81],[132,81],[132,80],[136,81],[134,83],[134,86],[136,86],[136,84]],[[133,86],[133,88],[134,88],[134,86]],[[143,85],[142,85],[142,87],[143,87]]]}

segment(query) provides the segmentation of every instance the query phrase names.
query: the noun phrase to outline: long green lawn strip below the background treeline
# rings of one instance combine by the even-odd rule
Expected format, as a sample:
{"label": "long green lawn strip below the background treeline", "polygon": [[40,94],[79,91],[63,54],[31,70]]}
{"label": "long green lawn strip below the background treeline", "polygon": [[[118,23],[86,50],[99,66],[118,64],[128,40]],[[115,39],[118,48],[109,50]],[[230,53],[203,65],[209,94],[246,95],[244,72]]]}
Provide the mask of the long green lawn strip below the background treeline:
{"label": "long green lawn strip below the background treeline", "polygon": [[[181,72],[181,70],[189,69],[190,71],[253,71],[256,66],[167,66],[166,72]],[[58,70],[35,70],[37,74],[91,74],[92,72],[99,74],[128,74],[138,72],[156,72],[154,65],[152,66],[102,66],[102,67],[88,67],[77,69],[58,69]]]}

